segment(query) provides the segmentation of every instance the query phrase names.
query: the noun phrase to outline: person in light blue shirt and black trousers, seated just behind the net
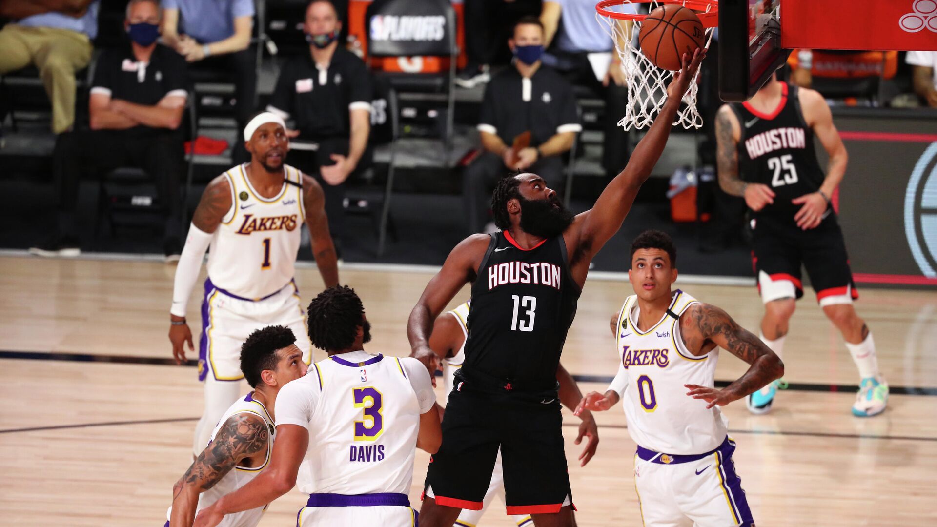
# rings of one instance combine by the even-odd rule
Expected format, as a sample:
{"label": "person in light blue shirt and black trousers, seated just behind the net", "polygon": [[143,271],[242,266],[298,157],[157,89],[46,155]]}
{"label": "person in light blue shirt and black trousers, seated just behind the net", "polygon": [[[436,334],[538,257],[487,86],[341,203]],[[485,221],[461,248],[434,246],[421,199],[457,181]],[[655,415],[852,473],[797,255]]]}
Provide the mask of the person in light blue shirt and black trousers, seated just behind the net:
{"label": "person in light blue shirt and black trousers, seated just behind the net", "polygon": [[[596,21],[595,0],[546,0],[543,2],[543,47],[546,64],[557,68],[568,81],[586,86],[605,99],[602,123],[602,168],[614,175],[628,163],[628,132],[618,126],[628,106],[628,81],[621,68],[615,42]],[[636,12],[628,4],[620,12]],[[611,62],[607,62],[608,60]],[[595,61],[595,65],[593,65]],[[596,71],[600,63],[608,63],[606,71]]]}

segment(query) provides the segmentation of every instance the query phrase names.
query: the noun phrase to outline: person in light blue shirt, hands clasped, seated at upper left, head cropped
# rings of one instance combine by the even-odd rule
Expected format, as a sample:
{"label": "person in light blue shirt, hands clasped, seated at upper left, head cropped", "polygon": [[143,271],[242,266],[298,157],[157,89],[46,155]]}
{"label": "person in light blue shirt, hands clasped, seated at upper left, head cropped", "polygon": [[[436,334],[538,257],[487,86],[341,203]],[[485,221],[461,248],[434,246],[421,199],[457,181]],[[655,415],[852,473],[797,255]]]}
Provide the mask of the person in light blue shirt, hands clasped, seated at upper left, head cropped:
{"label": "person in light blue shirt, hands clasped, seated at upper left, head cropped", "polygon": [[[238,130],[257,104],[257,55],[250,47],[254,0],[162,0],[163,42],[186,61],[227,73],[234,83]],[[249,156],[235,142],[233,161]]]}

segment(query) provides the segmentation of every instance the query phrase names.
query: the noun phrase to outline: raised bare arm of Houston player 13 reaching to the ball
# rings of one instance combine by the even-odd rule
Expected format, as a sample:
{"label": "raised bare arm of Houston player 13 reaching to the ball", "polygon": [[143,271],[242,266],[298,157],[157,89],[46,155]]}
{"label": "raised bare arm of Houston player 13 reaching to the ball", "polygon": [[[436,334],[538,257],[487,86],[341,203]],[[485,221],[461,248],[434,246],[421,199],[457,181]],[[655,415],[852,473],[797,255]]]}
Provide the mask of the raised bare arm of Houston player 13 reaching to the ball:
{"label": "raised bare arm of Houston player 13 reaching to the ball", "polygon": [[605,187],[592,209],[577,218],[581,227],[574,245],[576,249],[573,251],[573,265],[589,260],[578,258],[576,254],[595,254],[621,228],[622,221],[632,208],[638,189],[661,158],[674,117],[680,108],[680,99],[686,93],[705,56],[706,52],[702,48],[694,52],[692,57],[684,53],[683,68],[674,73],[674,80],[667,86],[667,101],[664,102],[661,113],[654,119],[654,124],[647,130],[647,134],[634,147],[628,166]]}

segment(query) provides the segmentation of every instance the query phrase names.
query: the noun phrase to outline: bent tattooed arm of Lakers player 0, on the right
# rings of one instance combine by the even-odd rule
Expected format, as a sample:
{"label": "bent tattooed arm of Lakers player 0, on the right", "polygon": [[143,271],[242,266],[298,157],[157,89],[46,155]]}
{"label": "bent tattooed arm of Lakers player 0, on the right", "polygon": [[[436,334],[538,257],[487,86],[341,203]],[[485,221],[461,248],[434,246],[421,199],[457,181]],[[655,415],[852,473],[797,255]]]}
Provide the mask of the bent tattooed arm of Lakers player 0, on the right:
{"label": "bent tattooed arm of Lakers player 0, on the right", "polygon": [[784,363],[778,355],[715,306],[694,304],[687,309],[680,316],[680,335],[692,354],[706,354],[720,346],[751,365],[744,375],[721,390],[685,384],[690,388],[687,395],[693,399],[706,399],[709,403],[706,408],[742,399],[784,374]]}

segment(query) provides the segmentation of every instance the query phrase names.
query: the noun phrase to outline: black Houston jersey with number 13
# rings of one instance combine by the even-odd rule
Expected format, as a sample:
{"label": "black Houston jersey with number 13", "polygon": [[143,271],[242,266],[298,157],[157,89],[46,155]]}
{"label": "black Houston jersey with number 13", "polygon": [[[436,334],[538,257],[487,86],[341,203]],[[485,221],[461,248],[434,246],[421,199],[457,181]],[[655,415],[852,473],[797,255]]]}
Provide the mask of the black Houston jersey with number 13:
{"label": "black Houston jersey with number 13", "polygon": [[579,294],[562,235],[525,250],[510,233],[492,234],[471,288],[462,369],[518,384],[555,383]]}

